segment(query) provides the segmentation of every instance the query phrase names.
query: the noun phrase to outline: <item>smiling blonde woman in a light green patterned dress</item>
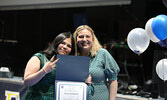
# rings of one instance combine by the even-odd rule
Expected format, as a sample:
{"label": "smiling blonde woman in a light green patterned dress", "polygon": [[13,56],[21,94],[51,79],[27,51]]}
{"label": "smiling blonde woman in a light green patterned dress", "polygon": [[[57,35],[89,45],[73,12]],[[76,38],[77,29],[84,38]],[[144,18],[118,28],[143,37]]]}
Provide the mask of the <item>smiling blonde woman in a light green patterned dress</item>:
{"label": "smiling blonde woman in a light green patterned dress", "polygon": [[[89,56],[91,100],[115,100],[119,67],[111,54],[103,49],[94,31],[88,25],[79,26],[74,32],[75,55]],[[108,80],[108,81],[107,81]],[[109,83],[109,85],[108,85]]]}

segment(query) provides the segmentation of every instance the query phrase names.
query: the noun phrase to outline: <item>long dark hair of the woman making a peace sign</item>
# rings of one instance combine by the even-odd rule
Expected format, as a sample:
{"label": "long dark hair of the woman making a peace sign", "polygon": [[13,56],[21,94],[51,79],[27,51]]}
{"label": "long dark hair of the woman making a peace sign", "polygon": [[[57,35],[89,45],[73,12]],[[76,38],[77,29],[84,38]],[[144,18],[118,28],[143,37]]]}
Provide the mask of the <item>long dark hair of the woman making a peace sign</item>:
{"label": "long dark hair of the woman making a peace sign", "polygon": [[56,55],[58,54],[58,52],[57,52],[57,47],[58,47],[58,45],[59,45],[63,40],[65,40],[66,38],[71,38],[71,40],[72,40],[72,35],[71,35],[70,32],[63,32],[63,33],[60,33],[59,35],[57,35],[57,36],[55,37],[55,39],[54,39],[53,42],[49,45],[49,47],[48,47],[46,50],[42,51],[42,53],[45,54],[48,59],[51,59],[51,57],[52,57],[53,55],[56,56]]}

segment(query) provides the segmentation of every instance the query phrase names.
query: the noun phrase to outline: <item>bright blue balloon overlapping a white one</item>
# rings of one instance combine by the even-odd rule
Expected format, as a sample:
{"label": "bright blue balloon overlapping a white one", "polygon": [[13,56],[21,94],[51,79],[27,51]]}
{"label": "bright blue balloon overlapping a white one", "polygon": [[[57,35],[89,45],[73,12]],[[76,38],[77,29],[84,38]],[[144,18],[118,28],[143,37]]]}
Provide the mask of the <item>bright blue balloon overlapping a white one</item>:
{"label": "bright blue balloon overlapping a white one", "polygon": [[167,38],[167,16],[158,15],[152,22],[152,31],[159,40],[165,40]]}

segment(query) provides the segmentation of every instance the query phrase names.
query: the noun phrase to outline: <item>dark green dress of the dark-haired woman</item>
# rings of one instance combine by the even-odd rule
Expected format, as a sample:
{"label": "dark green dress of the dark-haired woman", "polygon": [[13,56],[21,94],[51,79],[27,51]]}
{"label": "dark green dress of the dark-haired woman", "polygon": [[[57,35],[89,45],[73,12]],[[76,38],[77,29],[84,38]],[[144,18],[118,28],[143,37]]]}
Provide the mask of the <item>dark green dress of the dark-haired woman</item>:
{"label": "dark green dress of the dark-haired woman", "polygon": [[[40,68],[48,61],[46,56],[41,53],[36,53],[34,56],[40,59]],[[55,73],[56,70],[54,69],[52,72],[45,75],[37,84],[28,87],[23,100],[54,100]]]}

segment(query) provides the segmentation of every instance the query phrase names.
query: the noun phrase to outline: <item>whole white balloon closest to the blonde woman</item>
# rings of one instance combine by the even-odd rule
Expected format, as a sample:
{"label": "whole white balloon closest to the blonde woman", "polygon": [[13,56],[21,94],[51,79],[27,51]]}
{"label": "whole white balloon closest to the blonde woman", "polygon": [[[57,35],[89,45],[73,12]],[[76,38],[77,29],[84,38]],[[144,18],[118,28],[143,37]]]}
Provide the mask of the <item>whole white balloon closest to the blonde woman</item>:
{"label": "whole white balloon closest to the blonde woman", "polygon": [[134,53],[141,54],[148,48],[150,39],[144,29],[134,28],[128,34],[127,43]]}

